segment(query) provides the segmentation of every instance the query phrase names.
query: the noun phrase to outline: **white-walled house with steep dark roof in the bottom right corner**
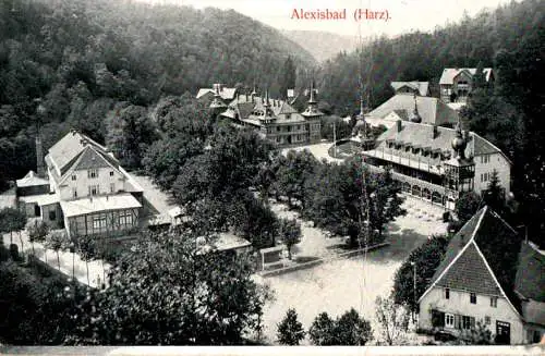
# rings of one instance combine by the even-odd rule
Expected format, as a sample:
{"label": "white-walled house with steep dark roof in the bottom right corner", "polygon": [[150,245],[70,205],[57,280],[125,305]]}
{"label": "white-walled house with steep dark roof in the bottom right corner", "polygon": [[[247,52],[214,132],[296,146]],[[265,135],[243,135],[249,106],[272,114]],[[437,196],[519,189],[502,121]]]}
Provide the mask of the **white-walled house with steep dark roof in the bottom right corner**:
{"label": "white-walled house with steep dark roof in the bottom right corner", "polygon": [[544,285],[543,253],[484,207],[450,240],[419,299],[419,328],[464,339],[482,326],[497,344],[540,342]]}

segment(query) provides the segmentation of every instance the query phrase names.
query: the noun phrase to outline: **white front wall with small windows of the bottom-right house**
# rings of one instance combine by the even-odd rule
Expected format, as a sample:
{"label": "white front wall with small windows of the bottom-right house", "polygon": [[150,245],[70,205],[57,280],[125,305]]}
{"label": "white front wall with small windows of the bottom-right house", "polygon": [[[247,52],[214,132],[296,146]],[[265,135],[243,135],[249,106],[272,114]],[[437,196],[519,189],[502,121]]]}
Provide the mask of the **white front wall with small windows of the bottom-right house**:
{"label": "white front wall with small windows of the bottom-right house", "polygon": [[[450,290],[450,298],[445,299],[443,287],[434,287],[420,303],[419,328],[432,330],[432,309],[444,312],[458,314],[475,318],[475,323],[485,317],[491,317],[491,323],[486,326],[494,335],[496,334],[496,321],[510,323],[511,344],[525,343],[525,332],[519,315],[504,297],[498,297],[497,307],[491,307],[491,296],[476,295],[476,304],[470,303],[470,293]],[[446,329],[447,330],[447,329]],[[456,331],[456,329],[452,329]]]}

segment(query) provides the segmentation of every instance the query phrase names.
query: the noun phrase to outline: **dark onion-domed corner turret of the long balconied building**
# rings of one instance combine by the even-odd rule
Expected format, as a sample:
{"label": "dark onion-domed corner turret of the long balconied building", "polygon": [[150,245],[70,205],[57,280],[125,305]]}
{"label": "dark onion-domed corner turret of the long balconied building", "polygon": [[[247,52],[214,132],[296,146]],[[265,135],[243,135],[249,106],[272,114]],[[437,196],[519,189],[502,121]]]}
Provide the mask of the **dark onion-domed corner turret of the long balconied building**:
{"label": "dark onion-domed corner turret of the long balconied building", "polygon": [[[456,201],[462,193],[472,192],[474,188],[475,162],[472,157],[465,156],[468,138],[468,133],[462,132],[462,124],[458,119],[456,137],[450,143],[453,155],[444,163],[445,193],[449,200]],[[453,209],[453,206],[449,207],[447,202],[447,208]]]}

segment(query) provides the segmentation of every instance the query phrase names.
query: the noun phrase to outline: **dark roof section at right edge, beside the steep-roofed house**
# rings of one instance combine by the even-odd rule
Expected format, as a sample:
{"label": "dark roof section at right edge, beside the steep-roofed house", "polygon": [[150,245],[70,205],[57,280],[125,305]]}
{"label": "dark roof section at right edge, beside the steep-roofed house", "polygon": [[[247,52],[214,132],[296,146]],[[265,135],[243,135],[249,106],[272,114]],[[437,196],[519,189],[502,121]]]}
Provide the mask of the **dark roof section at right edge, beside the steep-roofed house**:
{"label": "dark roof section at right edge, beside the steep-roofed house", "polygon": [[525,298],[545,303],[545,256],[526,243],[520,250],[514,283],[517,292]]}

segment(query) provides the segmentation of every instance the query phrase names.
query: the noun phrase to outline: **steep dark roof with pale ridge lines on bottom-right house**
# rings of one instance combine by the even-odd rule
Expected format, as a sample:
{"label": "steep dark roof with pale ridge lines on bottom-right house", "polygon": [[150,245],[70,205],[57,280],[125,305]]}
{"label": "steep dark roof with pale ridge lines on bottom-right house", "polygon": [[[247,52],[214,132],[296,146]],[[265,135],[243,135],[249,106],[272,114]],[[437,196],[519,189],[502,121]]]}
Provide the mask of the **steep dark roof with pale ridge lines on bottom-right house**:
{"label": "steep dark roof with pale ridge lines on bottom-right house", "polygon": [[421,299],[435,286],[505,296],[517,312],[514,293],[521,241],[488,207],[479,210],[449,242],[445,258]]}

